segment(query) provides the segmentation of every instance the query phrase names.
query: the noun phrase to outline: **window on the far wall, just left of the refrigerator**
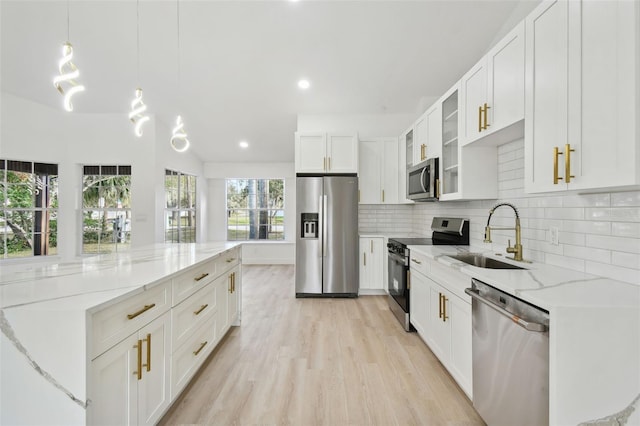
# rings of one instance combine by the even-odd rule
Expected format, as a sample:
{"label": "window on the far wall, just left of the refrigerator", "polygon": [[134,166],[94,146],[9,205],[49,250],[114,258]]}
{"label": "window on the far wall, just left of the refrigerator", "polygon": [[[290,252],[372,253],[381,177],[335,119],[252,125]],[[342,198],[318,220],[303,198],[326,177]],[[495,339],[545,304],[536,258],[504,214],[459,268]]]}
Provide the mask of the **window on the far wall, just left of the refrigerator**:
{"label": "window on the far wall, just left of the refrigerator", "polygon": [[227,240],[284,240],[283,179],[227,179]]}

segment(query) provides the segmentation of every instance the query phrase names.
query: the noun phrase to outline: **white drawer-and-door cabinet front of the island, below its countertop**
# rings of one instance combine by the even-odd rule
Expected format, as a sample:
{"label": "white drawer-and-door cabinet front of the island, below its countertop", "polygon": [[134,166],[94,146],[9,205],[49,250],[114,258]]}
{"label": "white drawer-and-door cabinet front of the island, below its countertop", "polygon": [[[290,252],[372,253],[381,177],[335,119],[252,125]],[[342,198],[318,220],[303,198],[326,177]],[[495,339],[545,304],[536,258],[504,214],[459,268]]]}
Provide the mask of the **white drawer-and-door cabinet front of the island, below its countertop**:
{"label": "white drawer-and-door cabinet front of the island, below its countertop", "polygon": [[239,324],[240,264],[239,248],[230,249],[92,316],[99,342],[91,347],[115,343],[90,362],[90,424],[152,425],[161,419]]}

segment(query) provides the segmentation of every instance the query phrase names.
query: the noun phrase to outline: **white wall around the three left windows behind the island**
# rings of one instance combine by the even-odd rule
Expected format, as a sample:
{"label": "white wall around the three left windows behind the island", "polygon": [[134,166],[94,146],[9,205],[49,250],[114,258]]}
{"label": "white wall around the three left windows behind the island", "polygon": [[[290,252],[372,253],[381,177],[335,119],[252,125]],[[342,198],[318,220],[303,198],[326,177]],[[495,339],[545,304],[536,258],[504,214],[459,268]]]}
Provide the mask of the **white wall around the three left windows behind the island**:
{"label": "white wall around the three left windows behind the island", "polygon": [[[170,131],[154,117],[137,138],[126,113],[68,113],[4,92],[0,105],[0,157],[58,164],[58,253],[63,258],[81,252],[82,165],[132,166],[132,246],[164,239],[164,168],[202,176],[195,155],[171,152]],[[200,180],[200,201],[206,205],[206,181]]]}

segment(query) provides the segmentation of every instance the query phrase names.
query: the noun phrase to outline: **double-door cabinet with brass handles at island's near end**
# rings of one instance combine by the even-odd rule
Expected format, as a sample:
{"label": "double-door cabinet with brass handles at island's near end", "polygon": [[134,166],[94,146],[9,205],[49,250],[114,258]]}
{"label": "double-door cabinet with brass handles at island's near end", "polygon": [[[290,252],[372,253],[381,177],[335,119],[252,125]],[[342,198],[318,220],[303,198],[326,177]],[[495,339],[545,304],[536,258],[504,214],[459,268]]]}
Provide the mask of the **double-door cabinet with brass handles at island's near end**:
{"label": "double-door cabinet with brass handles at island's near end", "polygon": [[169,407],[171,316],[165,312],[92,361],[91,424],[152,425]]}

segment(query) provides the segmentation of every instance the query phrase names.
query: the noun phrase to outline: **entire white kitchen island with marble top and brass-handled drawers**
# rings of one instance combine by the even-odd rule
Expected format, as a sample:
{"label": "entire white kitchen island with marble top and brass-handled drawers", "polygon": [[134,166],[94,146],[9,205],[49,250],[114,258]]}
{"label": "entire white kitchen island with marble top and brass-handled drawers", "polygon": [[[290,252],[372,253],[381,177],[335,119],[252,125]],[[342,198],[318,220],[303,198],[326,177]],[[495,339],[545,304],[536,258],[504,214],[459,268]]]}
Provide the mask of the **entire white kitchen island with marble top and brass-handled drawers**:
{"label": "entire white kitchen island with marble top and brass-handled drawers", "polygon": [[0,423],[157,422],[239,323],[240,257],[157,244],[3,266]]}

